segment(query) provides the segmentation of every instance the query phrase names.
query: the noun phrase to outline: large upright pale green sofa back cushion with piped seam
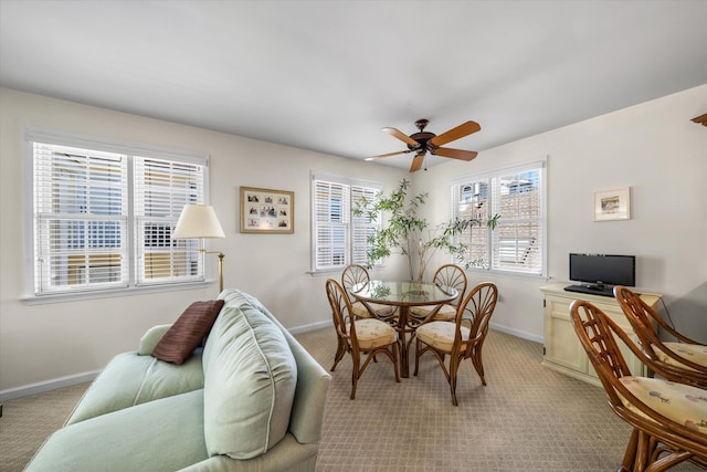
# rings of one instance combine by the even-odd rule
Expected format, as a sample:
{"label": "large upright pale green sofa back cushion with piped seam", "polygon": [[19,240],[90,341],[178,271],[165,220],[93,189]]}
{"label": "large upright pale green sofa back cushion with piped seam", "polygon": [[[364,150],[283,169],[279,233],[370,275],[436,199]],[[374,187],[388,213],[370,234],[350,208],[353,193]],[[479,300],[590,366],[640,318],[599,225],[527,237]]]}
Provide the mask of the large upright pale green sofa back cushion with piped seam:
{"label": "large upright pale green sofa back cushion with piped seam", "polygon": [[242,296],[223,306],[204,347],[210,455],[250,459],[287,432],[297,366],[283,332]]}

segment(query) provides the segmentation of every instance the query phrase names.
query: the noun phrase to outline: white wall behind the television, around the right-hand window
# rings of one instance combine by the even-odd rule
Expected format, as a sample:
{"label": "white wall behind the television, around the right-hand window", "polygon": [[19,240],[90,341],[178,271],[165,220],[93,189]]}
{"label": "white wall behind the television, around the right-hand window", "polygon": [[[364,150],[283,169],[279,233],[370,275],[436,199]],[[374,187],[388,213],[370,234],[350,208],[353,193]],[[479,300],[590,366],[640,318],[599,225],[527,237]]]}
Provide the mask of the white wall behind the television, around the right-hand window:
{"label": "white wall behind the television, around the right-hand window", "polygon": [[[706,112],[703,85],[418,172],[414,190],[442,222],[450,180],[547,156],[548,275],[568,280],[570,252],[635,254],[636,290],[665,294],[678,331],[707,342],[707,128],[690,122]],[[632,188],[632,219],[594,222],[593,192],[618,187]],[[497,328],[541,340],[546,280],[468,275],[498,284]]]}

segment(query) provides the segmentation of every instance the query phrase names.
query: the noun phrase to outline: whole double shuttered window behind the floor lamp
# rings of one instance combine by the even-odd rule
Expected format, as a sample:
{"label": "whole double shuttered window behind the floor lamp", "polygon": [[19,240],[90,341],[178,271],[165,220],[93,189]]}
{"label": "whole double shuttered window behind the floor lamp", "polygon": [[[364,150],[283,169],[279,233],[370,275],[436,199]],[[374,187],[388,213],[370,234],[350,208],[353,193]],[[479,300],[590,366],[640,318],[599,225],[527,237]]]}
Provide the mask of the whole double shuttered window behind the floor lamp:
{"label": "whole double shuttered window behind the floor lamp", "polygon": [[171,231],[184,204],[203,203],[205,157],[27,135],[34,295],[203,281],[197,242]]}

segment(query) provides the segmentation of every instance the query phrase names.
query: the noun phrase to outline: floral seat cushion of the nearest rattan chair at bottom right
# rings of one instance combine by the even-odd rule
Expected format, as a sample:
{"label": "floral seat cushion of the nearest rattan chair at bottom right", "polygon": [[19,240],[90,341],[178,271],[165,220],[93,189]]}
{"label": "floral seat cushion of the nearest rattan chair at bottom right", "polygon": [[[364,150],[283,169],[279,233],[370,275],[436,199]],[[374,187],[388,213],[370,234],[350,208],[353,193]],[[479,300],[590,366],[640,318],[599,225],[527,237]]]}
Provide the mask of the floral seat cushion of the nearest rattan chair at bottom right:
{"label": "floral seat cushion of the nearest rattan chair at bottom right", "polygon": [[[639,400],[664,417],[694,431],[707,434],[707,391],[658,378],[626,376],[621,382]],[[624,406],[645,417],[626,399]],[[707,436],[705,437],[707,441]]]}

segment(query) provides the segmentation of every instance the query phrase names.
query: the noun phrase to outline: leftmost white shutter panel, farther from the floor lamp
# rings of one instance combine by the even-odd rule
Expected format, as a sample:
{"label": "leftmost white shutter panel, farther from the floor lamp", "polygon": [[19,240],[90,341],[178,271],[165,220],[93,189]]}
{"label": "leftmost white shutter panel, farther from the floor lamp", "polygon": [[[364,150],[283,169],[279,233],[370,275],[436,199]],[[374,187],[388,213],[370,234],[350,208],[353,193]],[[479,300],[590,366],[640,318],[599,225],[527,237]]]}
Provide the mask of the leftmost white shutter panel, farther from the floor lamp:
{"label": "leftmost white shutter panel, farther from the floor lamp", "polygon": [[128,284],[127,156],[33,143],[34,293]]}

